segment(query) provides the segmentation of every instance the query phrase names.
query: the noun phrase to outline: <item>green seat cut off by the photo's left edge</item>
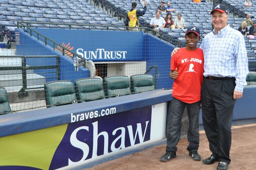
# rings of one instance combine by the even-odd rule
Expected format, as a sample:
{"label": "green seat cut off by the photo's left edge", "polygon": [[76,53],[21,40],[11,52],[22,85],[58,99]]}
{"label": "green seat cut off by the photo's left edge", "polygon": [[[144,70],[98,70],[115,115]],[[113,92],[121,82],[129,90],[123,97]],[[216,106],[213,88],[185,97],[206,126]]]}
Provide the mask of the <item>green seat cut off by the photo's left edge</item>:
{"label": "green seat cut off by the photo's left edge", "polygon": [[9,104],[7,91],[5,88],[0,88],[0,115],[12,113],[12,109]]}

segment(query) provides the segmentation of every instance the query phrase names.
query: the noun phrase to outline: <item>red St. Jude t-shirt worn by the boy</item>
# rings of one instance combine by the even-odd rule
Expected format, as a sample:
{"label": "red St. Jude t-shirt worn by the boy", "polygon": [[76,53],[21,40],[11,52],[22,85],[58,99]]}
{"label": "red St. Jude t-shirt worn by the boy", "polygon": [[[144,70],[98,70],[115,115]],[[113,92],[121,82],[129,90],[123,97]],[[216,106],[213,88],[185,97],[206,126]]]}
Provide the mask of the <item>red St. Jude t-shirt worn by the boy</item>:
{"label": "red St. Jude t-shirt worn by the boy", "polygon": [[203,50],[189,51],[181,48],[171,59],[171,70],[178,70],[174,80],[172,96],[186,103],[201,100],[201,86],[204,73]]}

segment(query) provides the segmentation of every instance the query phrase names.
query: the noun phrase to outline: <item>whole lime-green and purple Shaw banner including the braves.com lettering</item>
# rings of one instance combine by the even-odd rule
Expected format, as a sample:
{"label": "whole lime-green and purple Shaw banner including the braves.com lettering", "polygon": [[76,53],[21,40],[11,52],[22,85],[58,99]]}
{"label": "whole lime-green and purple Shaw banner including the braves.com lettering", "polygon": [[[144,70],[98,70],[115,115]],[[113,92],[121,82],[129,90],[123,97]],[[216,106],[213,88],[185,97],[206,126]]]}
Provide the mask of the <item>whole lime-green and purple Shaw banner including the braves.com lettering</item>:
{"label": "whole lime-green and purple Shaw banner including the braves.com lettering", "polygon": [[[122,113],[115,113],[115,108],[92,114],[71,113],[72,123],[1,137],[1,152],[5,154],[0,156],[0,169],[72,169],[150,142],[158,135],[151,133],[152,110],[148,106]],[[159,122],[154,123],[156,126],[159,127]]]}

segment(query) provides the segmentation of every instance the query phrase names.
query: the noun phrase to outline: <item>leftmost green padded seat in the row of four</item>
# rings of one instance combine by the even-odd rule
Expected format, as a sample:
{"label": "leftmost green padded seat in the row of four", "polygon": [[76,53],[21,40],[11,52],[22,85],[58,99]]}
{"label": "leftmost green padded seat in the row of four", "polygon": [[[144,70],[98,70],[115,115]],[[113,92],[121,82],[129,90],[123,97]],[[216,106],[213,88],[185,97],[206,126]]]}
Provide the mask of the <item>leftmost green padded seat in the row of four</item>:
{"label": "leftmost green padded seat in the row of four", "polygon": [[47,108],[77,103],[75,88],[70,81],[54,81],[44,84]]}

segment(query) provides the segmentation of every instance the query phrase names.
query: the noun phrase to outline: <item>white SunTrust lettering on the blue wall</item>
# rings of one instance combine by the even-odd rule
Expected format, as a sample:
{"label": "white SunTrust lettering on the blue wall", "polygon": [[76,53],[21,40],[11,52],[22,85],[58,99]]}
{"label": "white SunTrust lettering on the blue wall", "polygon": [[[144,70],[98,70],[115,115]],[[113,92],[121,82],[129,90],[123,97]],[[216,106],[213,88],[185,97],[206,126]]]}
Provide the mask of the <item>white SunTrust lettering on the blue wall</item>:
{"label": "white SunTrust lettering on the blue wall", "polygon": [[78,48],[76,53],[84,59],[126,59],[127,51],[106,51],[104,48],[97,48],[96,51],[84,51]]}

